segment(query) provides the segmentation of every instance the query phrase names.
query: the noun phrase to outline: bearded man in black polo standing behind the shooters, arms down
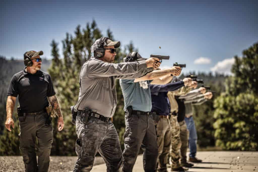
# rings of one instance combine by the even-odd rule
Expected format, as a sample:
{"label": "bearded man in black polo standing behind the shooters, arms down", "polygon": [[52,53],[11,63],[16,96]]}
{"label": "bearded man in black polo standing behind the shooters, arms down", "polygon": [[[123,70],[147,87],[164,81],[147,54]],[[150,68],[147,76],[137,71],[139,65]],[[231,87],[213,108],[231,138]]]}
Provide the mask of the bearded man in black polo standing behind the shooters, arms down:
{"label": "bearded man in black polo standing behind the shooters, arms down", "polygon": [[[11,80],[7,93],[5,127],[11,131],[14,128],[12,113],[19,95],[20,110],[18,111],[20,125],[20,150],[26,171],[48,171],[51,144],[53,142],[53,127],[49,122],[46,107],[50,103],[58,116],[58,130],[63,129],[63,116],[55,96],[51,77],[40,70],[43,51],[28,51],[24,54],[25,68],[16,73]],[[36,137],[38,138],[38,163],[35,153]]]}

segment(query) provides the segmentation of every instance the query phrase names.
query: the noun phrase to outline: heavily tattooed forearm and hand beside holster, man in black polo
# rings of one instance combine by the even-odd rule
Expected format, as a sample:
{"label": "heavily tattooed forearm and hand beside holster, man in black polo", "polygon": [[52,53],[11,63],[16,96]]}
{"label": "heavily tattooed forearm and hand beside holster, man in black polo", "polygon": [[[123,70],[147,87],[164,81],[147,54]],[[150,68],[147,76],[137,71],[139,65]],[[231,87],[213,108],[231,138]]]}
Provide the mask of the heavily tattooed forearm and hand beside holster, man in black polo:
{"label": "heavily tattooed forearm and hand beside holster, man in black polo", "polygon": [[58,131],[61,131],[64,128],[64,121],[57,96],[53,95],[47,98],[49,100],[49,103],[52,105],[55,114],[58,116],[57,127]]}

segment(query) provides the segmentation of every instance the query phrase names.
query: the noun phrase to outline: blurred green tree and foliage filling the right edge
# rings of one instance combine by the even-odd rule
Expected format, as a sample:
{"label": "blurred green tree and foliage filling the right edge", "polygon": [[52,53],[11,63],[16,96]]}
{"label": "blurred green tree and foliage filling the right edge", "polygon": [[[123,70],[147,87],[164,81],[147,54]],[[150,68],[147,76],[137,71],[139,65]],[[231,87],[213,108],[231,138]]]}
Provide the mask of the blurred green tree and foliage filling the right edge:
{"label": "blurred green tree and foliage filling the right edge", "polygon": [[234,76],[217,97],[214,123],[216,145],[226,150],[258,150],[258,43],[235,56]]}

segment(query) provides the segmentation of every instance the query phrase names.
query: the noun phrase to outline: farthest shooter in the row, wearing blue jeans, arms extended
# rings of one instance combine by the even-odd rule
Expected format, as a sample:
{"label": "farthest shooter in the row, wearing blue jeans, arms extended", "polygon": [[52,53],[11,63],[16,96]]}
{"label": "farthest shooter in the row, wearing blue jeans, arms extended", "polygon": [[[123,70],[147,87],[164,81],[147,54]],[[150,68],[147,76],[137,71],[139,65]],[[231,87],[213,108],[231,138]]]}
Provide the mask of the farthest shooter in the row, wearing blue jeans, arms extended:
{"label": "farthest shooter in the row, wearing blue jeans, arms extended", "polygon": [[[198,91],[198,89],[196,89]],[[194,91],[194,90],[193,90]],[[192,105],[200,105],[206,102],[208,99],[212,98],[212,93],[207,92],[204,94],[199,94],[188,99],[184,100],[184,105],[186,108],[186,116],[184,121],[186,122],[187,129],[189,130],[189,161],[190,162],[201,162],[202,160],[196,158],[196,151],[197,151],[197,132],[195,128],[195,123],[193,121],[193,111]]]}

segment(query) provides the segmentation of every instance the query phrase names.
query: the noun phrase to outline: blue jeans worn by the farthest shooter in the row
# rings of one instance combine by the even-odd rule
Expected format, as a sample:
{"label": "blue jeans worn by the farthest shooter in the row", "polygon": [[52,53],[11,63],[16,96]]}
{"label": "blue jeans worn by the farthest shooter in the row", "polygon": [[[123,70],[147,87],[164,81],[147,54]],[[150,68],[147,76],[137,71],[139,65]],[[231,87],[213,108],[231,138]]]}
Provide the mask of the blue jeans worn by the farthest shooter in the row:
{"label": "blue jeans worn by the farthest shooter in the row", "polygon": [[195,124],[193,121],[193,117],[191,116],[190,118],[184,118],[184,121],[186,121],[186,126],[187,129],[189,130],[189,149],[190,149],[190,154],[189,157],[195,157],[196,155],[196,151],[197,151],[197,132],[196,132],[196,128],[195,128]]}

